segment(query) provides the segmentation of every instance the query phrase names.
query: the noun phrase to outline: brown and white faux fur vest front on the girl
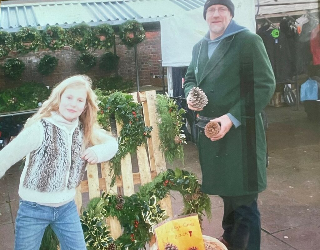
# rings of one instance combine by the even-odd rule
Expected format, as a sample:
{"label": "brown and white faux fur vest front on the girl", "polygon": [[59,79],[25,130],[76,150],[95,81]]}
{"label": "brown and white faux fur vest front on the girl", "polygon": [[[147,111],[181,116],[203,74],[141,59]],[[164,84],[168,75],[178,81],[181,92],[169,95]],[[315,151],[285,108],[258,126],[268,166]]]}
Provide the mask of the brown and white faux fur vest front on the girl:
{"label": "brown and white faux fur vest front on the girl", "polygon": [[45,119],[40,122],[44,127],[44,139],[29,155],[23,186],[39,192],[75,188],[83,178],[87,163],[81,159],[84,137],[81,124],[71,139],[66,131],[51,122]]}

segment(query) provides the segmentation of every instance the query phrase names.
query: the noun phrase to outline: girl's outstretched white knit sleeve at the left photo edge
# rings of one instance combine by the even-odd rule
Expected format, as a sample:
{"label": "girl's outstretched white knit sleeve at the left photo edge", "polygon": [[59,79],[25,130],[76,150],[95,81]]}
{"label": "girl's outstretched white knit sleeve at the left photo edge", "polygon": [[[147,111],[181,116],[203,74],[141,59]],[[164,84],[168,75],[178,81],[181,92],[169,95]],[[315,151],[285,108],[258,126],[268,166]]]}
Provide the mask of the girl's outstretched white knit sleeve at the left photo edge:
{"label": "girl's outstretched white knit sleeve at the left photo edge", "polygon": [[40,122],[24,128],[16,138],[0,151],[0,178],[15,163],[38,148],[43,141],[43,128]]}

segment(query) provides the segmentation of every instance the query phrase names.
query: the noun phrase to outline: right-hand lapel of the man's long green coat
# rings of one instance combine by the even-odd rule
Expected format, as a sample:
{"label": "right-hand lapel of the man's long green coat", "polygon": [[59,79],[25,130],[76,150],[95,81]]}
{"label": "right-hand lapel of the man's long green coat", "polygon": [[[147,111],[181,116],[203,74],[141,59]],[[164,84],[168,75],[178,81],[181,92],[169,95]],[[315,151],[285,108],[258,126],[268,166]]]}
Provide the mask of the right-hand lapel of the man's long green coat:
{"label": "right-hand lapel of the man's long green coat", "polygon": [[[217,64],[221,61],[221,59],[223,58],[223,56],[227,53],[230,44],[233,40],[235,35],[233,36],[229,36],[226,39],[223,39],[220,44],[218,45],[218,47],[214,50],[212,56],[210,57],[210,59],[208,60],[207,64],[205,64],[204,70],[202,72],[199,84],[200,85],[202,83],[202,81],[204,80],[204,78],[213,71],[213,69],[217,66]],[[206,52],[208,51],[208,49],[206,50]],[[208,53],[207,57],[208,57]],[[201,55],[200,55],[201,56]]]}

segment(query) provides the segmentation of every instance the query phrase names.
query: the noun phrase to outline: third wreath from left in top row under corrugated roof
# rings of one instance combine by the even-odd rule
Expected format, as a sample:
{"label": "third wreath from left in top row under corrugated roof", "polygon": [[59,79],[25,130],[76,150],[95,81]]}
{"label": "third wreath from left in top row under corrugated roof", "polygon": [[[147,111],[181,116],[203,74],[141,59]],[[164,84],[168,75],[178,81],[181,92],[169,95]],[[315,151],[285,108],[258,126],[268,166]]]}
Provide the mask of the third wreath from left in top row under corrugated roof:
{"label": "third wreath from left in top row under corrugated roof", "polygon": [[67,43],[66,36],[65,29],[59,26],[47,26],[43,32],[43,42],[51,50],[61,49]]}

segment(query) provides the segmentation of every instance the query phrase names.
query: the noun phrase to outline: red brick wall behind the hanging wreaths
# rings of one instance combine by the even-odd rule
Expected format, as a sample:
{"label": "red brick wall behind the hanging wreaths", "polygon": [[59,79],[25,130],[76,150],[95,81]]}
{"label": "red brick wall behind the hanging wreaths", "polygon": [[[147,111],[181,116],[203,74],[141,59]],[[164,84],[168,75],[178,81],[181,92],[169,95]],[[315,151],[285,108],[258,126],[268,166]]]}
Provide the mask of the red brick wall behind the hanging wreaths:
{"label": "red brick wall behind the hanging wreaths", "polygon": [[[113,49],[110,49],[110,51],[113,52]],[[120,57],[118,74],[124,79],[131,79],[136,82],[134,48],[127,48],[116,35],[116,51],[117,55]],[[95,50],[93,52],[93,55],[97,57],[98,64],[99,57],[105,52],[106,51],[102,50]],[[162,74],[160,31],[146,32],[146,39],[137,45],[137,52],[140,86],[150,85],[153,75]],[[47,54],[55,56],[59,60],[59,63],[56,70],[51,75],[42,76],[37,70],[37,65],[40,59]],[[26,64],[26,68],[21,79],[12,80],[4,77],[4,70],[0,67],[0,89],[17,87],[22,82],[31,80],[43,82],[45,85],[52,86],[70,75],[80,73],[75,66],[79,54],[79,51],[70,49],[68,46],[61,50],[50,51],[46,49],[28,53],[26,55],[11,51],[7,57],[0,59],[0,65],[4,65],[8,58],[17,57]],[[101,71],[98,64],[90,71],[86,72],[92,79],[98,79],[114,74]]]}

